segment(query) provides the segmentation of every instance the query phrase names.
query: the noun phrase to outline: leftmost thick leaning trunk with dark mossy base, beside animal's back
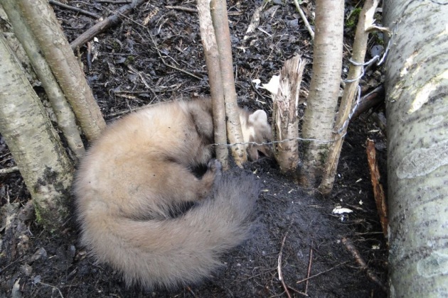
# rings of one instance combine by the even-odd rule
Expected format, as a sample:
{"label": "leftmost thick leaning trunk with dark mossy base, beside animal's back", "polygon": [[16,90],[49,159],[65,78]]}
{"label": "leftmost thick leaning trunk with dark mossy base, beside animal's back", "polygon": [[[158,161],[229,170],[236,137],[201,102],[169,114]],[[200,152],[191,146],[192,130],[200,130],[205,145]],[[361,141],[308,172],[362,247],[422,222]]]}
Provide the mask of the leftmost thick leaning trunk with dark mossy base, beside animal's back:
{"label": "leftmost thick leaning trunk with dark mossy base, beside animal's back", "polygon": [[0,34],[0,131],[33,198],[38,222],[68,216],[73,166],[38,96]]}

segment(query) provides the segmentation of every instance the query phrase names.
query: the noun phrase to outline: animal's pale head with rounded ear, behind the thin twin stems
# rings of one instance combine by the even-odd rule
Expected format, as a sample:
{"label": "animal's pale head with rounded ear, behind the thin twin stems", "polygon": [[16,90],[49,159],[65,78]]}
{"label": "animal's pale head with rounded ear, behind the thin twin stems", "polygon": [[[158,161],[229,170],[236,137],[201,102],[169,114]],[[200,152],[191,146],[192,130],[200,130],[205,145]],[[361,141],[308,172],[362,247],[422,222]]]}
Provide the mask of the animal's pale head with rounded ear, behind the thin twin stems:
{"label": "animal's pale head with rounded ear, behind the thin twin stems", "polygon": [[272,145],[262,143],[272,140],[272,130],[270,123],[267,122],[267,114],[263,110],[257,110],[253,113],[242,110],[240,113],[242,138],[245,142],[255,142],[261,145],[249,144],[246,147],[249,160],[257,160],[260,153],[267,158],[274,156]]}

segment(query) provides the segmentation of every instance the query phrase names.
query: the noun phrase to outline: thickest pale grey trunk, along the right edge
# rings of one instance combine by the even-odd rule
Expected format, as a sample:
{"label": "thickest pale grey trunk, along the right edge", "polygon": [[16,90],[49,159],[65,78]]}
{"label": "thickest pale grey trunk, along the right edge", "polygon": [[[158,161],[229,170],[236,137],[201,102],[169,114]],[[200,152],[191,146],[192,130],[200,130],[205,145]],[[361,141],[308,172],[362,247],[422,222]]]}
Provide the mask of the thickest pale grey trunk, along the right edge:
{"label": "thickest pale grey trunk, along the right edge", "polygon": [[384,2],[390,297],[448,295],[448,6]]}

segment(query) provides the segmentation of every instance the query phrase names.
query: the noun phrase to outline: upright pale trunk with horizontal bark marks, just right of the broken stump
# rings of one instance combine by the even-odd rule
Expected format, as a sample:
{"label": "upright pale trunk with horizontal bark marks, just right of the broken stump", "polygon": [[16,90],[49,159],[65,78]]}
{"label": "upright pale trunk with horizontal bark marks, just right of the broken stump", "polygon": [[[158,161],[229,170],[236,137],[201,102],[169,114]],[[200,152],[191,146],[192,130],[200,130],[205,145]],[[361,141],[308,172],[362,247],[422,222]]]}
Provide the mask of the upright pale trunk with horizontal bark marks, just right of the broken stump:
{"label": "upright pale trunk with horizontal bark marks, just right of the broken stump", "polygon": [[[304,138],[330,140],[332,137],[341,82],[342,45],[343,0],[316,0],[313,75],[302,126]],[[314,187],[327,153],[327,143],[304,144],[300,184]]]}

